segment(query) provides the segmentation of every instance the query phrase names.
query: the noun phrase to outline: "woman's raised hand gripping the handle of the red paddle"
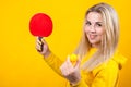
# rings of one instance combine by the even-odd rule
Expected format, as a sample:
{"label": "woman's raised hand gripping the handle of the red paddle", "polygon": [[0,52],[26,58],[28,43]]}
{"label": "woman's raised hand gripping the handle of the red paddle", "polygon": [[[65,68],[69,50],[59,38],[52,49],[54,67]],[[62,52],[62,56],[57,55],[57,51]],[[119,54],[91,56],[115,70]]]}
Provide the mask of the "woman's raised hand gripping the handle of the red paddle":
{"label": "woman's raised hand gripping the handle of the red paddle", "polygon": [[47,42],[45,41],[45,39],[41,38],[41,40],[36,39],[36,50],[43,54],[45,58],[47,58],[50,54],[50,50],[49,47],[47,45]]}

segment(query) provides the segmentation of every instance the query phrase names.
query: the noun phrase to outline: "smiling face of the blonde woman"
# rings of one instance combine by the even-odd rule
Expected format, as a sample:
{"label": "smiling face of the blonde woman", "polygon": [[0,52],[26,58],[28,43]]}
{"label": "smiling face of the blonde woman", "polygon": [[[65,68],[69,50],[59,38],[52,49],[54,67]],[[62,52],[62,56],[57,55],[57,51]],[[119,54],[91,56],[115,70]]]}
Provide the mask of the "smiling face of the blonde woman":
{"label": "smiling face of the blonde woman", "polygon": [[84,32],[93,47],[99,46],[105,32],[100,13],[90,12],[86,15]]}

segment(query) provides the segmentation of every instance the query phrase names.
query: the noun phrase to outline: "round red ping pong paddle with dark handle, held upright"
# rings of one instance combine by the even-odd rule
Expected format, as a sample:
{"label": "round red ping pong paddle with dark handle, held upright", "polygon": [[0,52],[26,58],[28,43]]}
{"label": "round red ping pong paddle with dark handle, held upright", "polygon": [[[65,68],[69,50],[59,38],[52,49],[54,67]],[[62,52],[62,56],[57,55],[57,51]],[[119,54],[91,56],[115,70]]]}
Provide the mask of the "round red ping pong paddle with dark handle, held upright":
{"label": "round red ping pong paddle with dark handle, held upright", "polygon": [[[51,35],[52,21],[49,15],[45,13],[37,13],[33,15],[29,21],[29,32],[33,36],[37,36],[40,41],[43,37]],[[43,51],[43,48],[40,48],[39,51]]]}

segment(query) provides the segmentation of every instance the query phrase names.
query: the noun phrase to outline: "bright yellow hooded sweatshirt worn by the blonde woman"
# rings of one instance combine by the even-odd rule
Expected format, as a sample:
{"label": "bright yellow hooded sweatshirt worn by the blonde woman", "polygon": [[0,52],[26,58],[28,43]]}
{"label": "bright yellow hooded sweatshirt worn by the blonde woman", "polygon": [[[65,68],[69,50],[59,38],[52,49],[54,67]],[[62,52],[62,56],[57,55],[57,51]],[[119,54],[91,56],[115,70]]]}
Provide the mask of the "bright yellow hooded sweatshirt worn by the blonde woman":
{"label": "bright yellow hooded sweatshirt worn by the blonde woman", "polygon": [[[82,60],[82,64],[95,52],[92,49],[88,54]],[[85,72],[81,70],[81,80],[75,87],[118,87],[119,79],[119,70],[122,67],[122,64],[126,62],[126,58],[120,53],[116,52],[112,58],[97,67],[92,72]],[[45,59],[48,65],[52,67],[59,75],[62,76],[60,72],[60,65],[62,61],[57,58],[53,53],[50,53],[48,58]],[[63,87],[73,87],[67,80],[67,86]]]}

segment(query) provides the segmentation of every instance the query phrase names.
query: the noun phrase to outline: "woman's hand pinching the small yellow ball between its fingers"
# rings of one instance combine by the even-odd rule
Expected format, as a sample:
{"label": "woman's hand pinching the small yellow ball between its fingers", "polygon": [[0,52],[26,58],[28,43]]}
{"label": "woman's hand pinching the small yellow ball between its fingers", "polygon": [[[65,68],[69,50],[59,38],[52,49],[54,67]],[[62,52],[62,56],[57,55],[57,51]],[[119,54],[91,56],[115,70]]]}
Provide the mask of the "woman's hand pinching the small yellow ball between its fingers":
{"label": "woman's hand pinching the small yellow ball between its fingers", "polygon": [[81,80],[80,62],[80,59],[78,59],[76,64],[73,66],[70,57],[68,57],[67,61],[60,66],[62,75],[71,85],[76,85]]}

